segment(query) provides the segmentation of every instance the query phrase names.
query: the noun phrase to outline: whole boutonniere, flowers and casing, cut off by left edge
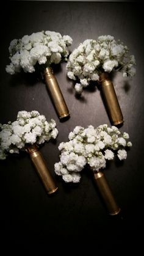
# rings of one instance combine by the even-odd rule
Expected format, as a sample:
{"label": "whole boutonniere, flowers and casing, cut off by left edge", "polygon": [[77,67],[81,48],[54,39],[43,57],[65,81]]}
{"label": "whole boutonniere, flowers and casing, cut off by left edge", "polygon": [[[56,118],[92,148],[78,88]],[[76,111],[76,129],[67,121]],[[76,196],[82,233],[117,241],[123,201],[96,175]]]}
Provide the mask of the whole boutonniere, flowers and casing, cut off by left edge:
{"label": "whole boutonniere, flowers and casing, cut off by left edge", "polygon": [[47,122],[45,116],[40,115],[38,111],[20,111],[15,122],[0,124],[0,128],[0,159],[5,159],[9,153],[26,151],[48,194],[55,192],[57,186],[38,150],[38,145],[49,139],[56,139],[56,122],[53,119]]}

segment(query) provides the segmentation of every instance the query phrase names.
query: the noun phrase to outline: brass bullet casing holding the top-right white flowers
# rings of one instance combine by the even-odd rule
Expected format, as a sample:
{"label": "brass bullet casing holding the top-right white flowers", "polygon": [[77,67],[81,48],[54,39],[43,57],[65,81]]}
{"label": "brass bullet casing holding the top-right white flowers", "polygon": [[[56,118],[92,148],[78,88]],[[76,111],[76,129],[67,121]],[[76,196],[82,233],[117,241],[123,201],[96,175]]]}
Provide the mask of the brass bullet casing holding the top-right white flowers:
{"label": "brass bullet casing holding the top-right white flowers", "polygon": [[118,103],[118,98],[109,74],[104,72],[99,76],[99,82],[107,106],[107,112],[113,125],[120,125],[124,122],[123,114]]}

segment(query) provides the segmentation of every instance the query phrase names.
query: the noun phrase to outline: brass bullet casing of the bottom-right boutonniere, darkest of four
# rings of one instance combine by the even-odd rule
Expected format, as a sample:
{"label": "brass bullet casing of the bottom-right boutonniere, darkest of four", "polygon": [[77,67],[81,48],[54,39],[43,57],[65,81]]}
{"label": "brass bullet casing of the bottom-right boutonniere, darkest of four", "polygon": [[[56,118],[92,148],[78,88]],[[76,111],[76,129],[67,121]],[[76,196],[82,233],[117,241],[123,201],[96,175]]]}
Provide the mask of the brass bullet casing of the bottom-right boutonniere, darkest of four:
{"label": "brass bullet casing of the bottom-right boutonniere, darkest of four", "polygon": [[110,190],[109,184],[107,183],[106,177],[103,172],[97,172],[94,174],[94,180],[104,200],[104,203],[109,211],[110,215],[116,215],[120,213],[120,207],[118,207],[115,201],[112,191]]}

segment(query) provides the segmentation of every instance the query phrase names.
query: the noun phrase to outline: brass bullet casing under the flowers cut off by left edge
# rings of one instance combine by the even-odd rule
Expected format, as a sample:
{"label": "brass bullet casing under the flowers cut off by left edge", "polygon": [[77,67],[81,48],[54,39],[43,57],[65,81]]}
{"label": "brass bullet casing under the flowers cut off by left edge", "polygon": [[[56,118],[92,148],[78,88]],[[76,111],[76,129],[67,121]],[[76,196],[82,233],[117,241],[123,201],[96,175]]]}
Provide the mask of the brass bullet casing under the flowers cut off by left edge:
{"label": "brass bullet casing under the flowers cut off by left edge", "polygon": [[45,186],[48,194],[56,192],[58,188],[55,185],[51,174],[49,173],[45,159],[38,150],[37,145],[27,145],[26,152],[29,153],[32,163],[34,164],[35,169],[37,170],[37,173],[41,178],[41,181],[43,182],[43,185]]}

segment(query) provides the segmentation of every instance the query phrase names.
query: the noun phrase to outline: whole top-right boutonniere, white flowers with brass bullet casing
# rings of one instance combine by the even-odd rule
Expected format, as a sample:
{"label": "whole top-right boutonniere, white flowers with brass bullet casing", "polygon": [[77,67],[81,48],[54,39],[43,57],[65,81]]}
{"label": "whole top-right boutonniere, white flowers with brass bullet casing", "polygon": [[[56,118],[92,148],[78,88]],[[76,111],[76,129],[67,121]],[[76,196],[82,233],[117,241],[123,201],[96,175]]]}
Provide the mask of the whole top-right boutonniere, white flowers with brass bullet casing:
{"label": "whole top-right boutonniere, white flowers with brass bullet casing", "polygon": [[134,55],[128,55],[129,49],[111,35],[101,35],[98,40],[88,39],[74,49],[67,63],[67,76],[76,81],[77,93],[91,81],[98,81],[113,125],[123,123],[117,95],[109,73],[120,71],[123,76],[135,75]]}

